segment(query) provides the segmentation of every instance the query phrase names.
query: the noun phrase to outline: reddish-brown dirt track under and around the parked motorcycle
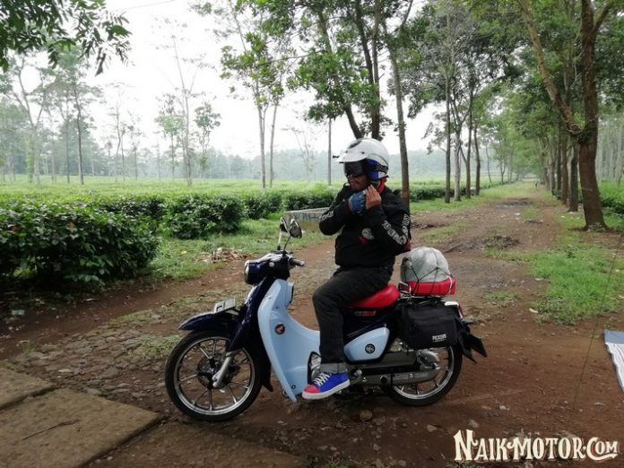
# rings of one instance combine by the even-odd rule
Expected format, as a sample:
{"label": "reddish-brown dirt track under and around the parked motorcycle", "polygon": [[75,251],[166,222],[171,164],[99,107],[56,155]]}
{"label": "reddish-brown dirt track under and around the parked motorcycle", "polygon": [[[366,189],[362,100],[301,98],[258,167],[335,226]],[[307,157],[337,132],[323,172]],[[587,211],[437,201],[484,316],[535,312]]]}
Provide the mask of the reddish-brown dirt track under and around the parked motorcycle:
{"label": "reddish-brown dirt track under and around the parked motorcycle", "polygon": [[[521,213],[529,206],[537,216],[525,221]],[[279,390],[273,394],[263,390],[244,415],[230,422],[208,425],[182,417],[161,384],[166,354],[178,339],[176,325],[182,317],[211,307],[214,300],[242,296],[245,285],[235,281],[240,277],[239,265],[178,285],[178,291],[102,299],[79,308],[76,316],[97,313],[99,320],[77,333],[58,321],[59,332],[45,340],[47,344],[10,362],[17,370],[59,386],[102,394],[162,415],[163,426],[119,447],[99,465],[144,466],[158,460],[158,464],[187,466],[211,459],[220,465],[220,454],[237,447],[215,442],[216,432],[300,455],[308,464],[319,465],[334,461],[363,466],[446,466],[455,456],[453,436],[465,429],[474,430],[479,438],[571,433],[585,441],[592,437],[618,440],[621,446],[624,393],[602,342],[602,330],[607,323],[611,329],[624,329],[624,310],[575,327],[540,324],[529,309],[544,282],[528,275],[523,265],[486,256],[484,251],[484,239],[516,249],[549,247],[559,232],[556,218],[563,212],[559,204],[546,201],[537,191],[462,212],[414,213],[413,245],[423,243],[426,226],[461,225],[454,238],[430,245],[445,252],[458,282],[455,299],[477,318],[474,331],[489,351],[489,358],[479,359],[477,365],[464,361],[455,388],[427,408],[406,408],[380,396],[293,404]],[[607,243],[616,240],[608,234],[584,235],[602,236],[601,241]],[[292,247],[296,250],[296,244]],[[316,324],[309,293],[332,272],[332,251],[329,241],[297,252],[308,264],[291,280],[296,285],[293,314],[305,325]],[[484,300],[486,294],[503,290],[516,299],[504,304]],[[135,313],[126,316],[130,312]],[[30,336],[33,342],[37,333]],[[65,333],[71,335],[63,337]],[[273,386],[279,389],[276,381]],[[188,431],[188,437],[180,437],[180,431]],[[206,458],[205,451],[216,458]],[[271,452],[264,456],[262,465],[290,463]]]}

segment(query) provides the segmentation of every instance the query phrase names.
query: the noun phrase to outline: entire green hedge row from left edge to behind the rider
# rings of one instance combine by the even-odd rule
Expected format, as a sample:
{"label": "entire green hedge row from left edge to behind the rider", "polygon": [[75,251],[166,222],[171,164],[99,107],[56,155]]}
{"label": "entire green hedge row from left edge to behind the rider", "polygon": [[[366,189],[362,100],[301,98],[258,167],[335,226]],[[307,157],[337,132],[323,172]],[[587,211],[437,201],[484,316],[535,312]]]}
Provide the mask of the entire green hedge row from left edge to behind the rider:
{"label": "entire green hedge row from left edge to behind the rider", "polygon": [[132,277],[156,255],[155,231],[176,238],[236,232],[245,218],[328,206],[329,189],[234,195],[96,196],[89,202],[0,203],[0,283],[29,277],[54,287]]}

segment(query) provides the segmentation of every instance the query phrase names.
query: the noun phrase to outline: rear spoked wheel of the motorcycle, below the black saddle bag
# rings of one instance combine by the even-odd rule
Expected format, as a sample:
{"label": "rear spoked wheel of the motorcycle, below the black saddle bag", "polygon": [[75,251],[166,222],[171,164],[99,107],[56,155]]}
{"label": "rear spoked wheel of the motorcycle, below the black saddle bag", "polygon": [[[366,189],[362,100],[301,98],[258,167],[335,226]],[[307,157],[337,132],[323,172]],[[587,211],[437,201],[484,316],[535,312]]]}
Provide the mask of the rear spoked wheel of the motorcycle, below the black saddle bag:
{"label": "rear spoked wheel of the motorcycle, below the black saddle bag", "polygon": [[431,348],[428,351],[438,356],[438,373],[426,382],[386,387],[386,392],[395,401],[411,406],[426,406],[436,403],[455,386],[464,357],[459,345]]}

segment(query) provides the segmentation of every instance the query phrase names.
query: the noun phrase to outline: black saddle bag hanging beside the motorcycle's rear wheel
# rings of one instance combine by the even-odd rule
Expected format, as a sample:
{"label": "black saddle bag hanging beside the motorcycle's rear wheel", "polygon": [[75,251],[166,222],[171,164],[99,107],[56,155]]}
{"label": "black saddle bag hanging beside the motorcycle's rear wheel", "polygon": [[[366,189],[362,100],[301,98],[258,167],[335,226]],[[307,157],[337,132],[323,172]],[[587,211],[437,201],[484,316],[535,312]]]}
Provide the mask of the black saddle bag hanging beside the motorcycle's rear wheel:
{"label": "black saddle bag hanging beside the motorcycle's rear wheel", "polygon": [[399,338],[412,350],[454,346],[459,337],[457,318],[442,302],[403,304]]}

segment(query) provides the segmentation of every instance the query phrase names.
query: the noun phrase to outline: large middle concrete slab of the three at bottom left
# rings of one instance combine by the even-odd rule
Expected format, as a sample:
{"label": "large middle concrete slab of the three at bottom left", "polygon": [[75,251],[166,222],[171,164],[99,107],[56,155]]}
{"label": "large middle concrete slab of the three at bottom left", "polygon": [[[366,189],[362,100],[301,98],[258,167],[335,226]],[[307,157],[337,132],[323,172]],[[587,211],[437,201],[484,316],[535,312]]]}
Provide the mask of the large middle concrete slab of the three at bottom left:
{"label": "large middle concrete slab of the three at bottom left", "polygon": [[154,412],[74,390],[40,394],[0,412],[0,466],[82,466],[158,418]]}

